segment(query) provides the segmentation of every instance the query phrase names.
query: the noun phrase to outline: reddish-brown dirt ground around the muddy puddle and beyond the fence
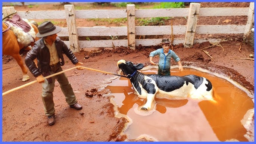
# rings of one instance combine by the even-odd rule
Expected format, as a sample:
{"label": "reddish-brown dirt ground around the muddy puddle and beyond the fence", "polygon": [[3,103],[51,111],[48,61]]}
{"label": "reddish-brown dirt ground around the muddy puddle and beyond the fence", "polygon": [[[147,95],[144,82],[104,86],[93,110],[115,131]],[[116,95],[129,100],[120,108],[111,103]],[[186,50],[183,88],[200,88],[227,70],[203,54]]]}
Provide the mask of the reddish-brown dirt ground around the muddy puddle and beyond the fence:
{"label": "reddish-brown dirt ground around the muddy puddle and beyond the fence", "polygon": [[[248,7],[249,3],[201,3],[203,7]],[[51,7],[40,6],[40,9]],[[16,9],[16,7],[15,7]],[[28,8],[17,6],[18,11],[26,11]],[[36,9],[36,10],[40,10]],[[60,9],[60,8],[59,8]],[[95,8],[96,9],[96,8]],[[218,22],[218,19],[212,21]],[[229,18],[231,21],[246,22],[246,19]],[[207,19],[202,23],[209,22]],[[221,20],[222,21],[222,20]],[[231,35],[232,36],[232,35]],[[237,38],[220,43],[221,46],[207,48],[206,51],[214,58],[207,56],[201,48],[210,46],[209,42],[194,44],[192,48],[184,48],[182,44],[174,46],[175,53],[181,58],[183,66],[196,66],[219,73],[236,81],[245,87],[254,96],[254,61],[235,58],[250,58],[254,55],[254,47],[243,43],[243,38]],[[149,53],[160,46],[136,47],[135,51],[127,50],[126,47],[115,50],[104,49],[98,53],[91,53],[88,59],[87,51],[75,53],[83,66],[101,71],[118,73],[116,63],[120,59],[134,63],[150,65]],[[103,48],[102,48],[103,49]],[[239,51],[239,49],[241,51]],[[24,59],[25,56],[22,58]],[[158,59],[154,58],[154,62]],[[172,62],[176,65],[175,62]],[[65,65],[62,68],[74,67],[65,57]],[[9,56],[3,56],[3,92],[34,81],[31,79],[22,82],[22,72],[16,61]],[[89,70],[71,70],[66,72],[69,82],[77,96],[82,110],[71,109],[66,104],[65,97],[56,82],[54,90],[54,103],[56,109],[56,123],[47,125],[47,117],[44,115],[41,100],[41,84],[32,84],[21,90],[3,96],[3,141],[124,141],[125,135],[122,130],[127,120],[124,117],[115,117],[115,104],[107,97],[86,97],[85,93],[94,88],[103,88],[113,75]],[[127,140],[136,141],[136,140]],[[139,141],[148,141],[140,139]]]}

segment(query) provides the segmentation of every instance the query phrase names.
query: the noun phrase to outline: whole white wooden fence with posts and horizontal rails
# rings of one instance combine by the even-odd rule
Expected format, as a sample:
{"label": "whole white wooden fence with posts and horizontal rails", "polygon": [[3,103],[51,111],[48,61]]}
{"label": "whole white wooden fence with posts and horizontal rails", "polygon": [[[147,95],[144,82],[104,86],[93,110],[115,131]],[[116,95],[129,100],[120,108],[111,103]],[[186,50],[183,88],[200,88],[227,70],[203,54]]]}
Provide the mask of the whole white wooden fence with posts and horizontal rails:
{"label": "whole white wooden fence with posts and horizontal rails", "polygon": [[[135,9],[134,4],[127,4],[126,10],[74,10],[74,5],[65,5],[65,10],[17,12],[24,19],[66,19],[67,28],[62,28],[59,37],[69,37],[65,43],[78,52],[79,48],[94,47],[129,47],[158,45],[161,39],[135,39],[135,35],[171,35],[184,34],[185,38],[174,39],[173,44],[183,43],[190,47],[193,43],[217,39],[194,40],[194,34],[244,34],[246,35],[254,24],[254,3],[243,8],[200,8],[198,3],[190,3],[190,8],[179,9]],[[3,7],[3,15],[15,11],[14,7]],[[247,16],[246,25],[197,25],[198,16]],[[154,17],[187,17],[187,25],[178,26],[135,26],[135,18]],[[127,18],[127,26],[117,27],[77,27],[75,19]],[[173,30],[172,30],[173,29]],[[127,40],[92,40],[78,41],[78,37],[90,36],[127,36]]]}

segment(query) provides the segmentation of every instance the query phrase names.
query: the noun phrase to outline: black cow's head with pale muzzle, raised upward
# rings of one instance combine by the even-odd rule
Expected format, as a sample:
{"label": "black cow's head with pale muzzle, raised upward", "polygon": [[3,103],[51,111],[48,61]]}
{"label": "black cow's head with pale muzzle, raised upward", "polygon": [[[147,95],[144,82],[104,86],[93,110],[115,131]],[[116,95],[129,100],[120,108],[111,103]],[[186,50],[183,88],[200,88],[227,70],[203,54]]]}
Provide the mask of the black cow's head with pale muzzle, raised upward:
{"label": "black cow's head with pale muzzle, raised upward", "polygon": [[125,62],[125,60],[119,60],[117,62],[117,66],[123,71],[125,75],[131,75],[135,71],[140,70],[144,67],[142,63],[134,65],[132,62]]}

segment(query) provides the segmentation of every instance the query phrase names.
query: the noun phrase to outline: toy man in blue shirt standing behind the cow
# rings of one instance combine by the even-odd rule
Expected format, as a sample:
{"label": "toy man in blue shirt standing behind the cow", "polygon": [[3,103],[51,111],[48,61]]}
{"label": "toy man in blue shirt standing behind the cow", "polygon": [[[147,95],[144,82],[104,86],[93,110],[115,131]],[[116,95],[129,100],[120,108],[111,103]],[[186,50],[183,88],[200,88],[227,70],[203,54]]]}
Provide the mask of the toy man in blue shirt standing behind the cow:
{"label": "toy man in blue shirt standing behind the cow", "polygon": [[152,59],[154,56],[159,55],[159,62],[158,62],[158,75],[171,75],[170,68],[171,68],[171,58],[174,59],[177,64],[179,65],[179,70],[183,71],[181,61],[177,54],[174,51],[170,50],[170,41],[169,39],[162,39],[162,48],[159,48],[155,51],[152,51],[149,54],[149,61],[152,65],[156,65]]}

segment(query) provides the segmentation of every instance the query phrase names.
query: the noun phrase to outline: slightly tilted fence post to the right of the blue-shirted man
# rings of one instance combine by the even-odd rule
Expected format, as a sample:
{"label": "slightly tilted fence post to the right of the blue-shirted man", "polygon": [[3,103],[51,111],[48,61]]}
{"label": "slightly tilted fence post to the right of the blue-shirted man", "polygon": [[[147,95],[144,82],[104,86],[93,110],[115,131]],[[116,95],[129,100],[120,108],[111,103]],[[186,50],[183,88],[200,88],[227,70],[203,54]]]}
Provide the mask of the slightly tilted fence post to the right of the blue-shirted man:
{"label": "slightly tilted fence post to the right of the blue-shirted man", "polygon": [[188,12],[187,28],[185,32],[184,47],[191,47],[194,43],[194,36],[196,32],[197,19],[199,14],[199,3],[190,3]]}

